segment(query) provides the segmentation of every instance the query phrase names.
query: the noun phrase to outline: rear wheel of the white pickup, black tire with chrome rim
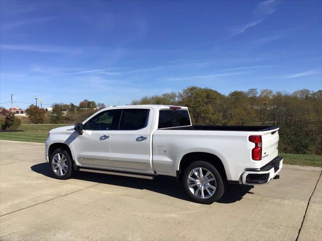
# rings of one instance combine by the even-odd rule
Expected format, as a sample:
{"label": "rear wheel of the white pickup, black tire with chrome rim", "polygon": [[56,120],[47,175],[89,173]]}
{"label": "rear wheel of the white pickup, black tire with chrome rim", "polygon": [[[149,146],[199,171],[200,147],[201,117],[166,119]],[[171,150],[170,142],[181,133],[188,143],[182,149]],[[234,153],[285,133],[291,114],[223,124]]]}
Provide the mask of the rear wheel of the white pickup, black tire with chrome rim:
{"label": "rear wheel of the white pickup, black tire with chrome rim", "polygon": [[187,195],[202,204],[219,200],[225,190],[220,173],[205,161],[191,163],[184,171],[182,181]]}

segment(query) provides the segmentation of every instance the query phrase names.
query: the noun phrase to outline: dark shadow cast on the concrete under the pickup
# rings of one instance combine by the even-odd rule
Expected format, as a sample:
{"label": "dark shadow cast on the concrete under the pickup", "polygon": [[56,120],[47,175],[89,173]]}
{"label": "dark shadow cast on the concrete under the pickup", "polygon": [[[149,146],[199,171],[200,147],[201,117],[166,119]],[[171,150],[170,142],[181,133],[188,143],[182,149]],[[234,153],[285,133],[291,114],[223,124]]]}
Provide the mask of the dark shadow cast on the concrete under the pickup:
{"label": "dark shadow cast on the concrete under the pickup", "polygon": [[[33,165],[31,170],[44,176],[54,178],[48,167],[48,163],[40,163]],[[154,180],[141,178],[115,176],[100,173],[76,172],[72,179],[97,182],[115,186],[122,186],[135,189],[145,189],[152,192],[165,194],[171,197],[179,198],[186,201],[191,201],[185,194],[181,184],[177,183],[175,177],[157,176]],[[227,190],[222,198],[217,201],[219,203],[233,203],[239,201],[247,193],[252,193],[250,190],[253,186],[249,185],[227,185]]]}

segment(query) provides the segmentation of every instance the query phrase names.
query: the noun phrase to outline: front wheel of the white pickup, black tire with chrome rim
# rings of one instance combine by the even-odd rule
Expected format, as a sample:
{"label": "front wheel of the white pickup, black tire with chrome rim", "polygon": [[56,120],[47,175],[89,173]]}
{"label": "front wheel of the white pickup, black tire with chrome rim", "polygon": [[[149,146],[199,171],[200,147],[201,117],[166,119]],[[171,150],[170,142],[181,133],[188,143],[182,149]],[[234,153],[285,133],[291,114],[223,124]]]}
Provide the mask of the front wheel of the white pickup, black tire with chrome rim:
{"label": "front wheel of the white pickup, black tire with chrome rim", "polygon": [[58,148],[50,156],[49,168],[55,178],[65,180],[72,176],[72,161],[65,149]]}

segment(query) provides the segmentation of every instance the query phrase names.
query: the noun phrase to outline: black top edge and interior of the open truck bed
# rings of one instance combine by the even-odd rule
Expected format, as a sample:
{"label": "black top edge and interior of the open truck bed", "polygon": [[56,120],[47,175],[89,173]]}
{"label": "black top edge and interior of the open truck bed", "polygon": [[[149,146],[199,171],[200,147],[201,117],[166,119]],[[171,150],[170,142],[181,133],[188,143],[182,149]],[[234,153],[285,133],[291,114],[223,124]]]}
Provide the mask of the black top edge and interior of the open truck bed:
{"label": "black top edge and interior of the open truck bed", "polygon": [[[173,127],[164,130],[190,130],[190,131],[239,131],[239,132],[265,132],[278,129],[276,126],[188,126]],[[162,129],[161,129],[162,130]]]}

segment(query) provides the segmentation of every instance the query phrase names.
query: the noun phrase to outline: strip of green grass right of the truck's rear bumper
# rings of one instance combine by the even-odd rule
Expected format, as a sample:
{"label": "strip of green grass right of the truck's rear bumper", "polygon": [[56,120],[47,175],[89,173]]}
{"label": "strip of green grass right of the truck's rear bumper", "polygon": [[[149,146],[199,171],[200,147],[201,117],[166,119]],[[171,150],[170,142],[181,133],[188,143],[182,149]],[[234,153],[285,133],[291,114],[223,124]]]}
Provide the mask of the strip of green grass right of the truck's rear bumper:
{"label": "strip of green grass right of the truck's rear bumper", "polygon": [[283,157],[283,164],[322,167],[322,156],[307,154],[279,153]]}

